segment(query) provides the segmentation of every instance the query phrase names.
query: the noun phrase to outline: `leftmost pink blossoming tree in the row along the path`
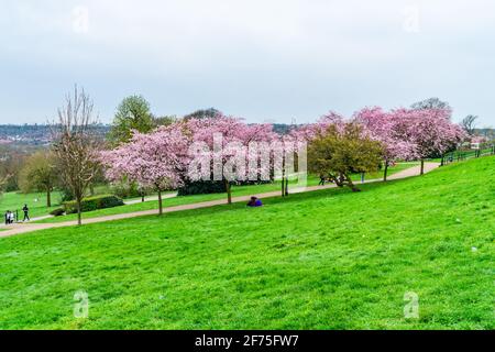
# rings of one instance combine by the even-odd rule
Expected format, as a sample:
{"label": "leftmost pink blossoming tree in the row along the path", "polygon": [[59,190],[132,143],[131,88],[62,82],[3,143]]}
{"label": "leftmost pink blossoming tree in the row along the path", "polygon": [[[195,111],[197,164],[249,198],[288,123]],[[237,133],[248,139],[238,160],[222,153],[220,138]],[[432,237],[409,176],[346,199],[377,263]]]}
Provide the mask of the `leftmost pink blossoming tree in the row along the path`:
{"label": "leftmost pink blossoming tree in the row along the path", "polygon": [[182,185],[189,161],[187,151],[188,139],[180,129],[161,127],[148,134],[134,132],[129,143],[101,153],[101,162],[110,180],[128,177],[157,191],[162,215],[162,193]]}

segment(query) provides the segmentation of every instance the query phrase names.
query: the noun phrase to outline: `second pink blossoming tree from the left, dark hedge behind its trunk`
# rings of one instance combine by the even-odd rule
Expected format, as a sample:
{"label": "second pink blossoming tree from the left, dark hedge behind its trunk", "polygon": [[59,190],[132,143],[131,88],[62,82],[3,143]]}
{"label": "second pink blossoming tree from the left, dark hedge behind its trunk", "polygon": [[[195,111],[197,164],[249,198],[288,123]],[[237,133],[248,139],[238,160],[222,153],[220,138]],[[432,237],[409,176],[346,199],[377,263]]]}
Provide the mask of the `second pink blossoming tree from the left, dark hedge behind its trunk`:
{"label": "second pink blossoming tree from the left, dark hedge behind its trunk", "polygon": [[266,175],[270,166],[261,163],[276,136],[271,124],[249,125],[241,119],[217,116],[185,122],[190,136],[188,177],[193,180],[221,180],[228,204],[232,202],[231,184]]}

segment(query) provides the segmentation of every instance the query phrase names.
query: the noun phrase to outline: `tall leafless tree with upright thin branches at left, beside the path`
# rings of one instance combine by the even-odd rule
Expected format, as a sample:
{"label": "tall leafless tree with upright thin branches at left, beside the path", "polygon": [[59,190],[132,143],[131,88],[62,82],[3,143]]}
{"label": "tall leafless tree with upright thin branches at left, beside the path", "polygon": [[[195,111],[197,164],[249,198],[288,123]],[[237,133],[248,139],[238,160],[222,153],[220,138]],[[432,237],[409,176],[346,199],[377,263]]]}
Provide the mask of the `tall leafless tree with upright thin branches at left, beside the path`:
{"label": "tall leafless tree with upright thin branches at left, beside the path", "polygon": [[58,121],[52,124],[53,151],[61,169],[61,177],[73,191],[77,208],[77,223],[81,223],[81,201],[86,190],[98,172],[100,141],[94,127],[94,103],[84,89],[74,88],[74,95],[66,96],[65,105],[58,109]]}

